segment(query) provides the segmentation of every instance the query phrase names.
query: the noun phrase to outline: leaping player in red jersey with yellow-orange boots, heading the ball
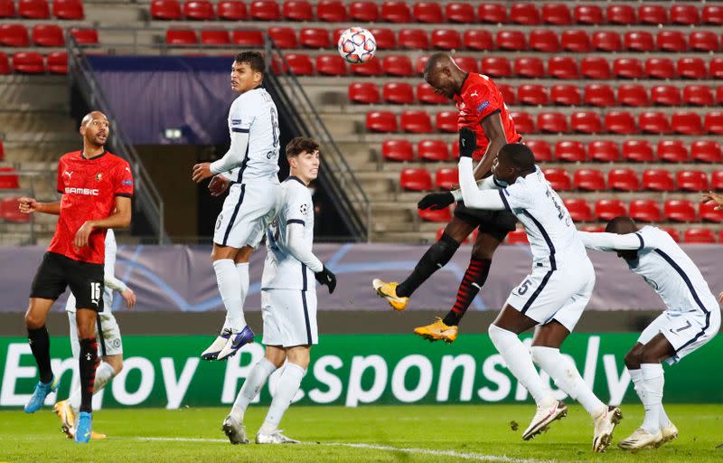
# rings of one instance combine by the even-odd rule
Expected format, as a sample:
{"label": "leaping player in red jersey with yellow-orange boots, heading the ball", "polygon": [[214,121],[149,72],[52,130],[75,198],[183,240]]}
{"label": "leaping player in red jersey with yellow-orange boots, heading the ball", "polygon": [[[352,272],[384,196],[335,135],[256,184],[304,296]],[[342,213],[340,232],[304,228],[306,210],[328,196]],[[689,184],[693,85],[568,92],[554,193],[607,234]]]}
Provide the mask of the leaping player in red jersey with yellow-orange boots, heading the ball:
{"label": "leaping player in red jersey with yellow-orange boots, heading the ball", "polygon": [[[474,131],[476,149],[473,157],[474,160],[481,161],[475,168],[474,177],[480,180],[490,175],[493,161],[502,146],[521,141],[500,90],[489,77],[459,69],[452,57],[446,53],[435,53],[429,57],[424,78],[437,93],[455,100],[459,110],[457,129],[471,128]],[[460,134],[460,146],[463,146],[465,141],[468,142]],[[460,194],[432,193],[422,198],[418,207],[444,209],[459,200]],[[409,296],[437,269],[444,267],[459,245],[475,228],[479,228],[469,267],[457,290],[454,307],[444,319],[437,318],[433,324],[414,330],[416,334],[429,340],[441,339],[451,343],[457,336],[460,319],[464,317],[465,311],[487,280],[494,250],[507,233],[515,229],[516,222],[514,215],[507,211],[469,209],[464,203],[460,203],[455,207],[455,216],[447,223],[441,238],[422,256],[407,279],[399,284],[374,279],[372,286],[380,297],[387,298],[391,307],[404,310]]]}

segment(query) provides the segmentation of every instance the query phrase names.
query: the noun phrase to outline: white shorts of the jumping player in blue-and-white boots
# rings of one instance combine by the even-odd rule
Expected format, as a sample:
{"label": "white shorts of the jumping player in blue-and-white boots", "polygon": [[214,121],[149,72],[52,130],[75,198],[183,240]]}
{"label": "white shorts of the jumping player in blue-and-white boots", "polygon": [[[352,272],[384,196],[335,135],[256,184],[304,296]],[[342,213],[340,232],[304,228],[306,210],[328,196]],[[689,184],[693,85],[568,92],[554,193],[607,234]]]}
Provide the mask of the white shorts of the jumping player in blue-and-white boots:
{"label": "white shorts of the jumping player in blue-and-white boots", "polygon": [[256,248],[276,213],[280,186],[258,180],[231,186],[216,219],[213,242],[219,246]]}

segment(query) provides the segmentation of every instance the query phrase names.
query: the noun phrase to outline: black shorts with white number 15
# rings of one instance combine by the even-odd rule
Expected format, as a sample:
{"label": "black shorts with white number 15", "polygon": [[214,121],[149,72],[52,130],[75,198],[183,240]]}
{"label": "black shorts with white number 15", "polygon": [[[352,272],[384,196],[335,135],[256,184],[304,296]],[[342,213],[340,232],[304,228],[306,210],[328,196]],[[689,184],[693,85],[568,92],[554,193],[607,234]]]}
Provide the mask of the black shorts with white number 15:
{"label": "black shorts with white number 15", "polygon": [[31,298],[55,300],[70,286],[76,308],[103,311],[103,264],[80,262],[58,254],[46,252],[38,267]]}

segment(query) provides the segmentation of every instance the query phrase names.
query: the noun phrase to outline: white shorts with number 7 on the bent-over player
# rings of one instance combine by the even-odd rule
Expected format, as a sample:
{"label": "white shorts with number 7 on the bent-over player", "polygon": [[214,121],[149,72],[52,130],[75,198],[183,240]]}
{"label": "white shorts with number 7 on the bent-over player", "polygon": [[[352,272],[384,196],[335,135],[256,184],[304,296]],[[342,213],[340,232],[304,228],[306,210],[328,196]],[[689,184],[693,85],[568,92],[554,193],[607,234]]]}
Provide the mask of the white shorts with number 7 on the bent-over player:
{"label": "white shorts with number 7 on the bent-over player", "polygon": [[658,333],[675,349],[675,354],[666,359],[667,364],[677,364],[681,358],[708,343],[720,329],[720,309],[714,307],[706,316],[700,308],[688,312],[666,310],[643,329],[638,342],[646,345]]}

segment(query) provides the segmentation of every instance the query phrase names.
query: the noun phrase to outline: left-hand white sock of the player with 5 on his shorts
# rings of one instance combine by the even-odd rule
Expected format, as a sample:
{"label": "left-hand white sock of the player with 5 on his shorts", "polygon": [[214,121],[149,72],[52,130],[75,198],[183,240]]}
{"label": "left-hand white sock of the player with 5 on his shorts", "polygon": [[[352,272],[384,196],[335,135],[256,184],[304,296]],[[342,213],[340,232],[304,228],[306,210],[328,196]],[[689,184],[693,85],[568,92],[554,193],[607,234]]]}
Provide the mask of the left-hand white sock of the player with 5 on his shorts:
{"label": "left-hand white sock of the player with 5 on his shorts", "polygon": [[532,364],[532,356],[520,338],[499,326],[490,325],[488,332],[494,348],[502,355],[507,368],[517,381],[527,389],[539,406],[549,406],[555,402],[549,386],[542,381],[540,374]]}

